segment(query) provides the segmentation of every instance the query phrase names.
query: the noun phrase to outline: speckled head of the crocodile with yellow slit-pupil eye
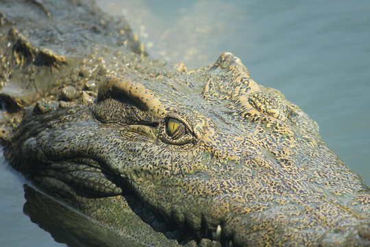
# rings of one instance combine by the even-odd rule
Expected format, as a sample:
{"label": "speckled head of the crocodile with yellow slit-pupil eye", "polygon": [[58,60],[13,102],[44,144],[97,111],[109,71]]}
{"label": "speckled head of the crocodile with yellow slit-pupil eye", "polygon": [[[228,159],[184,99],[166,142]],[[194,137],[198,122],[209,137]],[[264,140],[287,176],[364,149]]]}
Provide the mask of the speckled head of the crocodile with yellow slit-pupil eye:
{"label": "speckled head of the crocodile with yellow slit-pupil eye", "polygon": [[53,196],[83,203],[130,190],[225,246],[369,244],[361,178],[230,53],[199,71],[110,75],[94,103],[60,105],[25,118],[11,139],[20,155],[5,150]]}

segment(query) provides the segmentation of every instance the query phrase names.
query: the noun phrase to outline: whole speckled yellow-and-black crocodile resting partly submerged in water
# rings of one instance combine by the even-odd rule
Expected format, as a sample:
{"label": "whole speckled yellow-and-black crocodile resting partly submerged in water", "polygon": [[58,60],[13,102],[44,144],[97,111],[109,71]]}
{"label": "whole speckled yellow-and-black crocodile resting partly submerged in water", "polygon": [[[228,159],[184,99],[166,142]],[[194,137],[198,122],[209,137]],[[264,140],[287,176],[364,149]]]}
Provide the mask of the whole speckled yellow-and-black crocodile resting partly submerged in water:
{"label": "whole speckled yellow-and-black crocodile resting partly submerged in water", "polygon": [[[51,3],[32,1],[46,21],[58,14]],[[370,245],[369,187],[306,113],[257,84],[233,54],[188,71],[151,61],[118,28],[110,36],[124,33],[141,48],[108,43],[73,62],[55,40],[53,51],[34,48],[34,36],[28,42],[10,19],[1,14],[13,40],[5,70],[23,71],[28,85],[1,95],[12,112],[1,140],[10,165],[32,182],[26,195],[41,205],[32,210],[56,202],[61,224],[98,246]],[[84,45],[101,47],[88,35]],[[94,68],[87,76],[86,67]],[[25,74],[45,68],[38,78],[66,80],[30,90]]]}

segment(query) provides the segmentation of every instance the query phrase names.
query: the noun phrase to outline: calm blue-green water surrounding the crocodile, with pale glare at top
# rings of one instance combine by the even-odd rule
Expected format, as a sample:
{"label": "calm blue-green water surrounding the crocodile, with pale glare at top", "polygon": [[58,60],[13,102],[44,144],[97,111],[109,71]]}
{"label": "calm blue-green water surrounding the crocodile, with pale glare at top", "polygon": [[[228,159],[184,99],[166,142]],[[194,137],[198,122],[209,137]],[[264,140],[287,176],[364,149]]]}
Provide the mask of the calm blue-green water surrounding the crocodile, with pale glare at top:
{"label": "calm blue-green water surrounding the crocodile, with pale glare at top", "polygon": [[[324,141],[370,185],[370,1],[98,5],[127,16],[152,58],[195,68],[231,51],[256,82],[280,90],[317,121]],[[23,182],[0,165],[0,245],[63,246],[22,213]]]}

